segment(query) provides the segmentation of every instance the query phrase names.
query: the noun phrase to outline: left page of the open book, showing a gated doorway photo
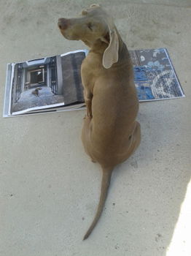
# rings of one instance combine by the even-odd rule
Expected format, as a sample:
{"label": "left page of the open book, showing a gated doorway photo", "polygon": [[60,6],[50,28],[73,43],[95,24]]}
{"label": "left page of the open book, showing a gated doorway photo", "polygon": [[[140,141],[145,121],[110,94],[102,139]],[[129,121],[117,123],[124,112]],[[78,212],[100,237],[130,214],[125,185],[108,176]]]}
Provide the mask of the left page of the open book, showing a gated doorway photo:
{"label": "left page of the open book, showing a gated doorway photo", "polygon": [[85,50],[77,50],[61,56],[9,64],[4,116],[82,105],[80,68],[85,53]]}

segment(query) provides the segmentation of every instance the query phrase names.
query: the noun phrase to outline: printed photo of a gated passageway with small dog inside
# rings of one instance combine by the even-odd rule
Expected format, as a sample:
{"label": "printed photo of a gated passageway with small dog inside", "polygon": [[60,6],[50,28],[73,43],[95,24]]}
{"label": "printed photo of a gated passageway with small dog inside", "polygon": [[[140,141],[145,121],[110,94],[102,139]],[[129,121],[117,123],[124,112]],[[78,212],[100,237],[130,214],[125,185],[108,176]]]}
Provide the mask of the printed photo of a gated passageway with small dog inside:
{"label": "printed photo of a gated passageway with small dog inside", "polygon": [[15,64],[12,80],[12,112],[63,103],[61,56]]}

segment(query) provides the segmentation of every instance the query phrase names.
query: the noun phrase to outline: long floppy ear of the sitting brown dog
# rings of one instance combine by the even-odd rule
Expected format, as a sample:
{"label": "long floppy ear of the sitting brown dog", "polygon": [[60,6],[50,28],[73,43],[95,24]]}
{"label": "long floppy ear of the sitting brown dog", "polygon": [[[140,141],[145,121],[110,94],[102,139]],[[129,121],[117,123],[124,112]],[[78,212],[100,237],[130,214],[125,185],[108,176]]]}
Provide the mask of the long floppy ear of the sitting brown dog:
{"label": "long floppy ear of the sitting brown dog", "polygon": [[[104,42],[107,40],[104,39]],[[112,64],[116,63],[118,61],[118,51],[119,51],[119,39],[117,36],[116,29],[110,29],[109,27],[109,46],[104,51],[103,56],[103,66],[106,69],[109,69],[109,67],[112,67]]]}

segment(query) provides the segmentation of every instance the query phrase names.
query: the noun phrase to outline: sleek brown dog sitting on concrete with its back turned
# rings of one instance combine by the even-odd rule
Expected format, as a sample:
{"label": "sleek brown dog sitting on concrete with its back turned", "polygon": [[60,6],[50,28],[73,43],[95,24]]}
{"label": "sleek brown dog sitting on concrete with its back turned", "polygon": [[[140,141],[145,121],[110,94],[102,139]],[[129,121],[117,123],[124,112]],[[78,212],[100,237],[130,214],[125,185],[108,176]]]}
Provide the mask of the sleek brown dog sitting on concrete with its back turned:
{"label": "sleek brown dog sitting on concrete with its back turned", "polygon": [[103,176],[98,210],[86,239],[101,216],[112,170],[139,146],[139,101],[128,49],[99,5],[92,4],[79,18],[59,19],[58,26],[66,39],[80,39],[90,47],[81,69],[87,106],[82,143],[93,162],[101,165]]}

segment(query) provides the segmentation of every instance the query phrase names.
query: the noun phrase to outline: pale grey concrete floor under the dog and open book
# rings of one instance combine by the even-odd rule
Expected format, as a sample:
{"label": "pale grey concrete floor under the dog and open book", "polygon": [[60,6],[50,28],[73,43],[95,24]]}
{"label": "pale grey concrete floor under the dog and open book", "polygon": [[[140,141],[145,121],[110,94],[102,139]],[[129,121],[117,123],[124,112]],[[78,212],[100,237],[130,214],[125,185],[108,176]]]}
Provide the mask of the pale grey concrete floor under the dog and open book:
{"label": "pale grey concrete floor under the dog and open book", "polygon": [[[85,48],[57,19],[89,0],[0,0],[0,112],[6,64]],[[190,249],[190,0],[101,0],[130,49],[168,48],[186,98],[140,105],[142,142],[116,167],[106,208],[101,169],[80,140],[85,111],[0,120],[1,256],[188,256]]]}

